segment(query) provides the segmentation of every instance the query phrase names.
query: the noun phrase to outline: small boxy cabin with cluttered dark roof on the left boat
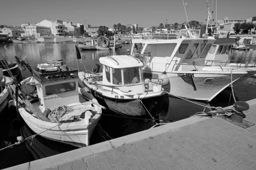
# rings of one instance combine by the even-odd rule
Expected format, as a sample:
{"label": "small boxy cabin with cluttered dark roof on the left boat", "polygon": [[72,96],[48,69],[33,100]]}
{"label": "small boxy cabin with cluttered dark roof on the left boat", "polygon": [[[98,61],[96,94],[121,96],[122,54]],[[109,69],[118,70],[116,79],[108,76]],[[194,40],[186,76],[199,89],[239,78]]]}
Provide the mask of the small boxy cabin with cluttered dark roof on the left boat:
{"label": "small boxy cabin with cluttered dark roof on the left boat", "polygon": [[79,103],[77,69],[69,68],[58,61],[55,64],[38,64],[33,73],[38,82],[38,105],[42,111]]}

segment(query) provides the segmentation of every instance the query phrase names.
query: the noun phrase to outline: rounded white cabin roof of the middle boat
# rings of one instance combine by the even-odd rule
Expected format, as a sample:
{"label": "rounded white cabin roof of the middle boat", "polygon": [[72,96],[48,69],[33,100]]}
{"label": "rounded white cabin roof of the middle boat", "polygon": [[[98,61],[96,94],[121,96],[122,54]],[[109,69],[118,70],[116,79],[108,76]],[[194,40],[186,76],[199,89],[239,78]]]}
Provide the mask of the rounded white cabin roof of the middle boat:
{"label": "rounded white cabin roof of the middle boat", "polygon": [[143,62],[130,55],[101,57],[99,58],[99,62],[102,65],[106,65],[111,68],[131,68],[143,66]]}

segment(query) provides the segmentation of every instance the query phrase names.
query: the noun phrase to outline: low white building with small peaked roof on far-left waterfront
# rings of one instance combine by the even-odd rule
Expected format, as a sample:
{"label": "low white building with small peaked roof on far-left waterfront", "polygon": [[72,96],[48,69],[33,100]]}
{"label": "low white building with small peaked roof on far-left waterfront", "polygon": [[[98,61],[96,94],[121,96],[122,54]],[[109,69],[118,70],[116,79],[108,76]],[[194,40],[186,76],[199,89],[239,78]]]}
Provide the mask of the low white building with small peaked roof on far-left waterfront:
{"label": "low white building with small peaked roof on far-left waterfront", "polygon": [[40,37],[44,35],[53,35],[50,27],[46,26],[33,26],[29,25],[23,28],[25,33],[21,34],[22,37]]}

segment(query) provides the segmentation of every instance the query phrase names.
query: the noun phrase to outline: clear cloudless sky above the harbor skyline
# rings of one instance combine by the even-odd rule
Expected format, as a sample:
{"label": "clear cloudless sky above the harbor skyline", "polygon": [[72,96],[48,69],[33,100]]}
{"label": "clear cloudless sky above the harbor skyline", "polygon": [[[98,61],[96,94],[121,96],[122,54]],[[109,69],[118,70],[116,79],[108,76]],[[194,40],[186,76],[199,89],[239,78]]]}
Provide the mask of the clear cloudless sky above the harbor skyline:
{"label": "clear cloudless sky above the harbor skyline", "polygon": [[[209,0],[215,19],[248,19],[256,15],[256,0]],[[188,20],[207,19],[207,0],[184,0]],[[182,0],[1,0],[0,25],[20,26],[44,19],[63,20],[91,26],[135,24],[139,27],[164,23],[183,23],[186,14]],[[85,21],[86,20],[86,21]]]}

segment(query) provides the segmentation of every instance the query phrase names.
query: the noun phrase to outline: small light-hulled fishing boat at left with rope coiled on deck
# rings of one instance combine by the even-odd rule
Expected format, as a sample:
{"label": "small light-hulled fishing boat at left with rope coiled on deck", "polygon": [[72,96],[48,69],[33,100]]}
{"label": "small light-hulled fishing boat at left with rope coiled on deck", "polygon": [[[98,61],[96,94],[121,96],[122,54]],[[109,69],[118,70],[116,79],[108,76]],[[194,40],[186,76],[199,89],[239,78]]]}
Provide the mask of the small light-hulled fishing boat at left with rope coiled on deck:
{"label": "small light-hulled fishing boat at left with rope coiled on deck", "polygon": [[[44,138],[85,147],[96,127],[102,106],[84,89],[78,88],[78,70],[63,61],[38,64],[20,89],[10,88],[18,96],[18,111],[26,124]],[[35,90],[34,90],[35,89]],[[79,96],[87,99],[81,102]]]}

